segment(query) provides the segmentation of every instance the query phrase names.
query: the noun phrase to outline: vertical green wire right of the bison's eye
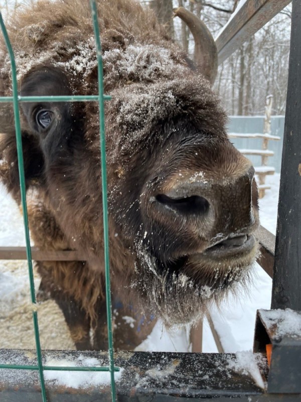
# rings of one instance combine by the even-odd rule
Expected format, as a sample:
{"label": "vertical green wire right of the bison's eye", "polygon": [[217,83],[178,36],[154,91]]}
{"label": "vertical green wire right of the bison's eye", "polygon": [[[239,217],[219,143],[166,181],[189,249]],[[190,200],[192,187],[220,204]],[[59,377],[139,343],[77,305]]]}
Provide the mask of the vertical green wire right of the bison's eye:
{"label": "vertical green wire right of the bison's eye", "polygon": [[104,94],[103,94],[103,65],[101,57],[101,43],[99,39],[99,27],[95,0],[90,0],[92,21],[96,42],[97,67],[98,67],[98,96],[99,96],[99,132],[100,132],[100,154],[101,154],[101,185],[102,185],[102,209],[103,209],[103,237],[104,237],[104,263],[105,263],[105,291],[106,311],[108,326],[109,344],[109,369],[111,376],[112,400],[116,400],[115,379],[114,379],[114,349],[112,337],[112,315],[111,315],[111,285],[109,266],[109,231],[108,231],[108,202],[107,202],[107,180],[106,180],[106,154],[105,154],[105,127],[104,127]]}

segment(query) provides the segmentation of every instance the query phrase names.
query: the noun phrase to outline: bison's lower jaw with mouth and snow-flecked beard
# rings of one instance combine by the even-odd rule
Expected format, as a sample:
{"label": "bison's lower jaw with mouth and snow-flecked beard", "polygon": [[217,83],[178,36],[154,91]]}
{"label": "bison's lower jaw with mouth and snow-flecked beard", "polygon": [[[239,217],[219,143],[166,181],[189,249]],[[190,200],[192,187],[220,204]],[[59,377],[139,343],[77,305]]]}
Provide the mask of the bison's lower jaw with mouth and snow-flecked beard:
{"label": "bison's lower jaw with mouth and snow-flecked beard", "polygon": [[[168,260],[140,254],[142,298],[166,325],[188,323],[202,315],[213,302],[219,302],[226,291],[246,287],[257,254],[254,235],[223,239],[203,252],[191,252]],[[169,324],[170,323],[170,324]]]}

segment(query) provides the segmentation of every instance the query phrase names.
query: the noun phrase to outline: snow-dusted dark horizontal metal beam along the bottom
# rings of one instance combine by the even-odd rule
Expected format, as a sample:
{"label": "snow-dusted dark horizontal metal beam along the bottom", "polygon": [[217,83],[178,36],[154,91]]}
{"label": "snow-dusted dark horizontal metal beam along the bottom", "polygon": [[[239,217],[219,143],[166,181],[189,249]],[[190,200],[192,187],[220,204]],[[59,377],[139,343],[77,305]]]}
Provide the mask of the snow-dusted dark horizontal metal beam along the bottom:
{"label": "snow-dusted dark horizontal metal beam along the bottom", "polygon": [[[36,365],[35,356],[35,351],[0,349],[0,364],[12,364],[17,361],[18,364]],[[55,359],[62,361],[62,364],[64,360],[68,360],[77,362],[77,365],[85,365],[85,359],[93,358],[100,366],[108,365],[107,352],[48,350],[43,351],[42,356],[43,364]],[[251,352],[250,358],[252,359]],[[264,394],[264,390],[248,373],[247,361],[245,364],[239,362],[235,354],[120,351],[115,353],[114,360],[115,365],[123,369],[116,382],[117,397],[122,402],[170,402],[183,400],[183,397],[203,402],[218,398],[221,402],[229,400],[231,396],[245,402],[255,402]],[[259,379],[261,374],[266,378],[266,359],[259,358],[258,363]],[[61,371],[57,374],[58,377],[62,376]],[[95,372],[91,375],[95,375]],[[76,381],[74,383],[76,384]],[[37,370],[0,369],[0,400],[41,402],[39,384]],[[111,401],[108,381],[80,389],[48,380],[46,391],[48,402]]]}

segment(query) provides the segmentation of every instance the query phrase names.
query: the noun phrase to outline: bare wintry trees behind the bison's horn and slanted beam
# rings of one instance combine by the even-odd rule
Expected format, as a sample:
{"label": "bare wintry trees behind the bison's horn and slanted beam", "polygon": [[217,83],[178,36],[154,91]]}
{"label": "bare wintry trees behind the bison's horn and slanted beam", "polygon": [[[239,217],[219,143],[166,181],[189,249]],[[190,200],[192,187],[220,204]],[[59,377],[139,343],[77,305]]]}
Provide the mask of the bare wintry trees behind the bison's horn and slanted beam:
{"label": "bare wintry trees behind the bison's horn and slanted beam", "polygon": [[[194,41],[185,23],[173,19],[173,8],[185,7],[198,15],[214,37],[235,12],[239,0],[151,0],[142,2],[155,10],[170,35],[190,54]],[[284,115],[291,5],[219,66],[215,89],[230,115],[263,115],[265,98],[273,95],[272,115]]]}

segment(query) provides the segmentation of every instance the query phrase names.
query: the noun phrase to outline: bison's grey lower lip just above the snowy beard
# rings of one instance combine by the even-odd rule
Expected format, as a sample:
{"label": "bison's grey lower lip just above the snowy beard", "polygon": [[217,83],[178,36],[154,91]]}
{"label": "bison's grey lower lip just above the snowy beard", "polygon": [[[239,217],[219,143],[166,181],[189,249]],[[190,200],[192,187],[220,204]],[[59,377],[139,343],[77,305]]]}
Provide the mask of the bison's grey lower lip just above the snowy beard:
{"label": "bison's grey lower lip just above the snowy beard", "polygon": [[243,239],[240,243],[241,244],[231,244],[230,242],[228,242],[227,244],[227,242],[224,240],[206,249],[202,254],[204,256],[213,258],[230,257],[237,254],[247,254],[255,246],[255,237],[253,235],[246,235],[245,239]]}

